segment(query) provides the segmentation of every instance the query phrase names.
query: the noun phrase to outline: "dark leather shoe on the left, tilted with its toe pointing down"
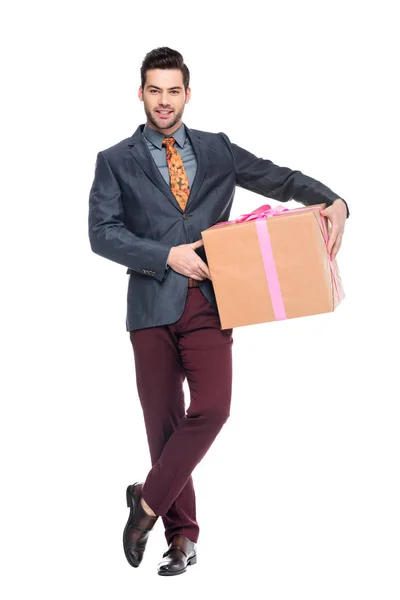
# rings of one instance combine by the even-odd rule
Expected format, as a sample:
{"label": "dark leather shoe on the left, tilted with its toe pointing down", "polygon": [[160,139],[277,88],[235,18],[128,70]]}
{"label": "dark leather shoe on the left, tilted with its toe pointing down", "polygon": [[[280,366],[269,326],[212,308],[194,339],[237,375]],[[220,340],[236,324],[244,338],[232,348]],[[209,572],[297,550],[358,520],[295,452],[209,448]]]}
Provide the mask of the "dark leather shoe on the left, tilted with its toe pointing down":
{"label": "dark leather shoe on the left, tilted with its toe pointing down", "polygon": [[126,503],[131,510],[124,529],[123,543],[126,559],[132,567],[138,567],[142,562],[149,532],[158,519],[158,515],[152,517],[144,510],[140,502],[142,487],[142,483],[136,482],[128,485],[126,490]]}

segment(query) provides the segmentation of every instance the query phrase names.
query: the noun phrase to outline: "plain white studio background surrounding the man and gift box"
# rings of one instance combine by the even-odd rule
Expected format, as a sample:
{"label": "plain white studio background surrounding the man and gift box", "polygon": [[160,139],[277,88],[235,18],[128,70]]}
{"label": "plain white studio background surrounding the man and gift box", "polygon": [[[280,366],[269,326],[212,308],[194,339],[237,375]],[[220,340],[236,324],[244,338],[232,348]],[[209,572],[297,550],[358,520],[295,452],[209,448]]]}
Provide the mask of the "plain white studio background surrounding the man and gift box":
{"label": "plain white studio background surrounding the man and gift box", "polygon": [[[7,600],[398,600],[394,7],[248,0],[3,9]],[[164,45],[191,72],[187,126],[224,131],[302,170],[351,211],[338,309],[234,330],[231,416],[193,473],[198,563],[172,578],[157,575],[161,520],[139,569],[123,553],[125,489],[145,479],[150,459],[125,331],[126,269],[93,254],[87,236],[96,154],[145,122],[140,65]],[[237,188],[231,218],[266,201]]]}

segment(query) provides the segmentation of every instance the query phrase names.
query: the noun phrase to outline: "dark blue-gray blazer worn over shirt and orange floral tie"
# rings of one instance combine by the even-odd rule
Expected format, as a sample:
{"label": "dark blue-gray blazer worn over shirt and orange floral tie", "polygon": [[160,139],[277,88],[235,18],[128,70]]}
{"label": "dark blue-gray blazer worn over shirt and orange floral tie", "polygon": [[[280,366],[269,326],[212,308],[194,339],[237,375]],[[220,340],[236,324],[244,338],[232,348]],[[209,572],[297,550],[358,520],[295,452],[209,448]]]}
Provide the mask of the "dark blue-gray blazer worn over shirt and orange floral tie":
{"label": "dark blue-gray blazer worn over shirt and orange floral tie", "polygon": [[[295,199],[305,206],[330,205],[339,198],[300,171],[257,158],[224,133],[186,127],[197,172],[182,211],[150,154],[143,128],[139,125],[131,137],[98,153],[89,194],[91,249],[128,267],[127,331],[179,319],[187,278],[166,268],[169,251],[201,239],[201,231],[215,223],[228,221],[236,186],[280,202]],[[196,252],[207,263],[204,247]],[[199,283],[218,311],[212,282]]]}

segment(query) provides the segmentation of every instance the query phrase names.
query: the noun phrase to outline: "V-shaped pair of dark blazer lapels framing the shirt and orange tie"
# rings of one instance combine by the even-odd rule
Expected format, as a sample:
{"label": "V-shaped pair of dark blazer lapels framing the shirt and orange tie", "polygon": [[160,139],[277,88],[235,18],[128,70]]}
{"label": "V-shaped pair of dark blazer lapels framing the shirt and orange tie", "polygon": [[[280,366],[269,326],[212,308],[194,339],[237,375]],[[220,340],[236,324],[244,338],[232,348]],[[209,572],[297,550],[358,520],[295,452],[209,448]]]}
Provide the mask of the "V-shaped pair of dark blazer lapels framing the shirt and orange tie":
{"label": "V-shaped pair of dark blazer lapels framing the shirt and orange tie", "polygon": [[[153,160],[153,157],[150,154],[146,141],[143,139],[142,136],[143,128],[144,125],[139,125],[135,133],[132,135],[130,141],[128,142],[129,151],[132,154],[133,158],[136,160],[136,162],[139,163],[139,165],[142,167],[146,175],[159,188],[159,190],[163,192],[163,194],[171,202],[171,204],[177,210],[183,212],[178,204],[178,201],[173,195],[170,186],[167,184],[164,177],[161,175],[159,169],[157,168]],[[191,131],[188,127],[186,127],[186,130],[197,159],[197,171],[192,183],[192,187],[190,189],[189,199],[185,209],[188,210],[189,206],[190,208],[193,207],[193,203],[196,200],[198,191],[207,173],[208,155],[204,141],[197,134]]]}

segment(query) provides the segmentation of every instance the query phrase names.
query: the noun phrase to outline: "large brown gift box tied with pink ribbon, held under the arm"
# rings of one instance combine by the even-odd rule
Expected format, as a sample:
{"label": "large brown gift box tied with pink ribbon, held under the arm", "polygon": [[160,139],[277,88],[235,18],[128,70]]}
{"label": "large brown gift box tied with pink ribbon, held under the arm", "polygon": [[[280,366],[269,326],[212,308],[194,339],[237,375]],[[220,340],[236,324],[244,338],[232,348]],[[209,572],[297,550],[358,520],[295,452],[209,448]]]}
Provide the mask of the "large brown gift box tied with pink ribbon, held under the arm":
{"label": "large brown gift box tied with pink ribbon, held under the arm", "polygon": [[333,311],[344,298],[327,252],[326,204],[259,207],[201,232],[221,329]]}

